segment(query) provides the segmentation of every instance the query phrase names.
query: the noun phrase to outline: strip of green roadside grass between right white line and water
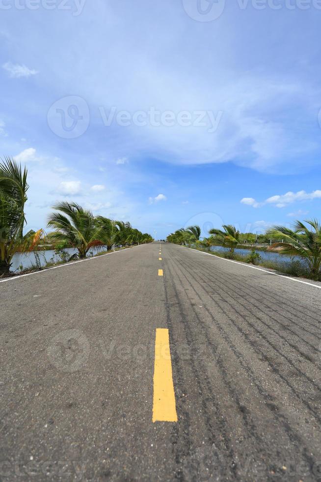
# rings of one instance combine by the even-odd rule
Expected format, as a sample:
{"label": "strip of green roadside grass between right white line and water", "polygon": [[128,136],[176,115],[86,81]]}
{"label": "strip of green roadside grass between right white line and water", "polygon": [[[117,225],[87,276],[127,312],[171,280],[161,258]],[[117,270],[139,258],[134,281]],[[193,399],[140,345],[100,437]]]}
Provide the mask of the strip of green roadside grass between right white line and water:
{"label": "strip of green roadside grass between right white line and water", "polygon": [[[205,253],[214,254],[219,258],[225,259],[232,259],[235,261],[240,261],[241,263],[247,263],[252,265],[262,266],[267,268],[268,270],[278,271],[283,274],[288,274],[289,276],[296,276],[299,278],[307,278],[313,279],[312,276],[309,275],[309,271],[305,268],[299,260],[292,259],[290,263],[286,263],[284,261],[270,261],[270,260],[263,260],[260,256],[257,258],[252,258],[251,254],[238,254],[238,253],[231,253],[229,251],[212,251],[210,249],[198,248],[192,246],[192,249],[196,249],[197,251],[203,251]],[[253,262],[254,261],[254,262]],[[321,273],[319,275],[319,281],[321,281]]]}

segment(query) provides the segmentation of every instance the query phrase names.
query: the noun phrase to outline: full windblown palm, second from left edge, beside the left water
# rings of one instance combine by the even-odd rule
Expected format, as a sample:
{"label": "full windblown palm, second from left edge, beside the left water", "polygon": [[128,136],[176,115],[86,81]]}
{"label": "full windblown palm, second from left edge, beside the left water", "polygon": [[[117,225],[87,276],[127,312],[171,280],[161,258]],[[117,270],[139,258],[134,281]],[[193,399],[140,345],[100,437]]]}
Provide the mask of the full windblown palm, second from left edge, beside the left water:
{"label": "full windblown palm, second from left edge, beside the left water", "polygon": [[77,248],[79,258],[85,258],[90,248],[106,245],[104,227],[97,223],[91,211],[65,201],[55,204],[53,209],[60,212],[53,212],[49,216],[48,226],[55,229],[51,238],[67,241]]}

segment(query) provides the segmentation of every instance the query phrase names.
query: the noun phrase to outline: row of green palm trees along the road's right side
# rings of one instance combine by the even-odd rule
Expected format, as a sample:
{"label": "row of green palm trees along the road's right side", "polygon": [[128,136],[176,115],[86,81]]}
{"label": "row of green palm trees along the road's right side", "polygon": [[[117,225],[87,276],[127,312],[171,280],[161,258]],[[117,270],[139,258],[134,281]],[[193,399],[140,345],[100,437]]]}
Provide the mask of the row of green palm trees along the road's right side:
{"label": "row of green palm trees along the road's right side", "polygon": [[[167,237],[167,241],[190,246],[196,244],[203,248],[211,246],[226,246],[231,253],[241,242],[241,233],[231,224],[220,229],[211,229],[209,238],[200,239],[199,226],[189,226],[179,229]],[[272,247],[290,256],[298,256],[308,266],[311,278],[321,279],[321,223],[317,219],[304,222],[296,221],[293,229],[285,226],[273,226],[267,230],[267,236],[276,240]]]}

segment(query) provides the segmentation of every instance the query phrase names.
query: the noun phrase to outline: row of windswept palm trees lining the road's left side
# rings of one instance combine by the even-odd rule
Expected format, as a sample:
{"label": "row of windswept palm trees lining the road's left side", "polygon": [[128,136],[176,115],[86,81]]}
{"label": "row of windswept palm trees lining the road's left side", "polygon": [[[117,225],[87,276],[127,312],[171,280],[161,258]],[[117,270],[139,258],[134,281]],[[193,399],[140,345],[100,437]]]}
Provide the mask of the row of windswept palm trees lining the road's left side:
{"label": "row of windswept palm trees lining the road's left side", "polygon": [[79,258],[98,247],[110,249],[112,245],[154,241],[148,233],[134,229],[129,222],[94,216],[91,211],[68,202],[53,207],[54,212],[48,220],[48,226],[54,229],[52,233],[46,235],[39,229],[24,236],[28,187],[26,167],[22,169],[14,159],[4,157],[0,162],[0,275],[10,271],[12,257],[17,251],[34,250],[45,241],[75,247]]}

